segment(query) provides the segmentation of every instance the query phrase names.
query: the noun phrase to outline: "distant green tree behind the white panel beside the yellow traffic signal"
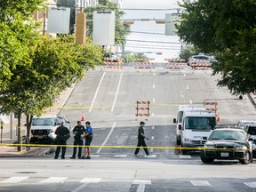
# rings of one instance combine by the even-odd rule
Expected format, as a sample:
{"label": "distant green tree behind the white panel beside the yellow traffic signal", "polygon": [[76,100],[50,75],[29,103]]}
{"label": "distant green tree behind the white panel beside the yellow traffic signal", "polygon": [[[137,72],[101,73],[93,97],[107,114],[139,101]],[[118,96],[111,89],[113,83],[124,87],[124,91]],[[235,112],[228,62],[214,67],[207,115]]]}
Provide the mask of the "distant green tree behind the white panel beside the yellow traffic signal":
{"label": "distant green tree behind the white panel beside the yellow traffic signal", "polygon": [[[86,7],[84,12],[86,13],[87,20],[92,20],[93,12],[100,10],[115,11],[116,14],[116,33],[115,33],[115,44],[124,45],[125,36],[130,33],[130,26],[124,24],[120,19],[124,16],[124,12],[120,10],[117,4],[110,2],[109,0],[99,0],[99,4],[96,6]],[[92,36],[92,22],[87,22],[87,35]]]}

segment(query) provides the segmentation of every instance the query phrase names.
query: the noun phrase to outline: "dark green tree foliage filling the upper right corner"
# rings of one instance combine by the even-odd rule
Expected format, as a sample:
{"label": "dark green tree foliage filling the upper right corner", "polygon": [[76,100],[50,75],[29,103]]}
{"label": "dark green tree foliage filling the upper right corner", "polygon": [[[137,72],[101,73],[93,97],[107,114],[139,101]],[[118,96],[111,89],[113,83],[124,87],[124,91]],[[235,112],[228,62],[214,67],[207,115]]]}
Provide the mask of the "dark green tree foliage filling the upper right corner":
{"label": "dark green tree foliage filling the upper right corner", "polygon": [[[184,0],[178,35],[205,53],[217,56],[213,74],[233,94],[255,92],[255,0]],[[253,53],[254,52],[254,53]]]}

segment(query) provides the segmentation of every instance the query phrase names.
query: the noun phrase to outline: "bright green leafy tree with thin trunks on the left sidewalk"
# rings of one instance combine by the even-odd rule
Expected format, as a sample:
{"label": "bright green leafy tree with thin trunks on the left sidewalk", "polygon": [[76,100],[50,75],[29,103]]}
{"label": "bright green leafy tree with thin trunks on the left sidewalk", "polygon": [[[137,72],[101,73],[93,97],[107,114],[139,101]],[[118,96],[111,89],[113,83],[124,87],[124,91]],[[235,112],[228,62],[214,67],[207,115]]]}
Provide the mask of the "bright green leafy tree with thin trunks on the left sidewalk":
{"label": "bright green leafy tree with thin trunks on the left sidewalk", "polygon": [[[60,92],[100,65],[100,47],[78,45],[74,36],[42,36],[31,13],[42,1],[8,1],[0,6],[0,113],[41,115]],[[3,5],[3,1],[0,1]],[[31,119],[27,118],[31,124]],[[27,135],[29,136],[28,124]]]}

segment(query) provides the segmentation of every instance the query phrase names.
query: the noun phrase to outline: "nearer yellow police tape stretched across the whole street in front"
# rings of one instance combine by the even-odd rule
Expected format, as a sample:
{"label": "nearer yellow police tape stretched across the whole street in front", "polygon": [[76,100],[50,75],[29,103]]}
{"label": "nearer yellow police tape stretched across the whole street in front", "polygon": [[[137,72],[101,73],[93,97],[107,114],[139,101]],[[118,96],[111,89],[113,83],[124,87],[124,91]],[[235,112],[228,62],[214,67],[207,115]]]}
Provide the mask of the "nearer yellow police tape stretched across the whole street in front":
{"label": "nearer yellow police tape stretched across the whole street in front", "polygon": [[[173,149],[173,150],[180,150],[180,149],[187,149],[187,150],[245,150],[245,149],[236,149],[236,148],[183,148],[183,147],[166,147],[166,146],[148,146],[148,147],[137,147],[137,146],[75,146],[75,145],[54,145],[54,144],[3,144],[0,143],[0,146],[5,147],[42,147],[42,148],[57,148],[57,147],[67,147],[67,148],[153,148],[153,149]],[[254,149],[255,150],[255,149]]]}

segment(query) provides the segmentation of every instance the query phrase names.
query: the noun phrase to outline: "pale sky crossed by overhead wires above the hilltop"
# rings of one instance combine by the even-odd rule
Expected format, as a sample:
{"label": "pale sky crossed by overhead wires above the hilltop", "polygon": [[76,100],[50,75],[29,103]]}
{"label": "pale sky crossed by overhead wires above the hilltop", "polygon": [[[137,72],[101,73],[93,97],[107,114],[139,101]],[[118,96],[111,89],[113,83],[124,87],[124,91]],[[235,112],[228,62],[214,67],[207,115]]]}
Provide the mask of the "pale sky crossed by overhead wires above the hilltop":
{"label": "pale sky crossed by overhead wires above the hilltop", "polygon": [[[134,19],[165,19],[166,13],[174,13],[176,10],[146,11],[125,9],[172,9],[179,8],[177,0],[123,0],[122,8],[126,13],[125,20]],[[126,37],[125,52],[152,52],[148,58],[156,61],[177,58],[180,54],[180,39],[178,36],[165,36],[164,24],[156,24],[156,21],[134,21],[131,25],[131,35]],[[138,33],[140,32],[140,33]],[[142,33],[141,33],[142,32]],[[157,35],[148,34],[157,33]],[[138,41],[139,40],[139,41]],[[149,43],[148,41],[151,41]],[[164,43],[163,43],[164,42]],[[162,55],[156,55],[162,52]]]}

